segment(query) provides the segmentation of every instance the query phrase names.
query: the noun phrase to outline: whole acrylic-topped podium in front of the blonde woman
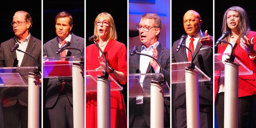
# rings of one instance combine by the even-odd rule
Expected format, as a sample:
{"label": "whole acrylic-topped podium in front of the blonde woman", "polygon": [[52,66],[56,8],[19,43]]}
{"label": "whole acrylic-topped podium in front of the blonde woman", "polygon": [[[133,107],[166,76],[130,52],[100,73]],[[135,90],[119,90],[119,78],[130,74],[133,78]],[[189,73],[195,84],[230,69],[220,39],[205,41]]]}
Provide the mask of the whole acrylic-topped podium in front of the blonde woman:
{"label": "whole acrylic-topped podium in front of the blonde woman", "polygon": [[110,91],[122,91],[111,76],[104,79],[104,70],[86,70],[86,92],[97,92],[97,126],[110,128]]}

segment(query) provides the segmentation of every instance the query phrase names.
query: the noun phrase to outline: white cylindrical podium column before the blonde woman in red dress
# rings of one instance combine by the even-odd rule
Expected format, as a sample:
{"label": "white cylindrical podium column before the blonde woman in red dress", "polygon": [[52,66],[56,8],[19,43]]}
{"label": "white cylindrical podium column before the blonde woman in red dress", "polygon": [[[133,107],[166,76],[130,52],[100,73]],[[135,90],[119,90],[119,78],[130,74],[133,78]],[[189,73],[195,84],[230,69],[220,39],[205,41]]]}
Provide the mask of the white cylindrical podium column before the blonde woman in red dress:
{"label": "white cylindrical podium column before the blonde woman in red dress", "polygon": [[97,125],[110,128],[110,80],[97,78]]}

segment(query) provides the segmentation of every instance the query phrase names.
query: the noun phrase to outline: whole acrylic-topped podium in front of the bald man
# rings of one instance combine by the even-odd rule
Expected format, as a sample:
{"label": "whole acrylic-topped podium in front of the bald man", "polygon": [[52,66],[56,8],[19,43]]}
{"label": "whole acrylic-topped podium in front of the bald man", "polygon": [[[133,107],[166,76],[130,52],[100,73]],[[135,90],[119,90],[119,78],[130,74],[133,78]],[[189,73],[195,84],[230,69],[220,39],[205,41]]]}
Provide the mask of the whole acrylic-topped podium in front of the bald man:
{"label": "whole acrylic-topped podium in front of the bald man", "polygon": [[199,128],[198,82],[210,81],[211,78],[195,65],[192,68],[190,66],[190,61],[172,63],[172,84],[186,84],[187,126]]}

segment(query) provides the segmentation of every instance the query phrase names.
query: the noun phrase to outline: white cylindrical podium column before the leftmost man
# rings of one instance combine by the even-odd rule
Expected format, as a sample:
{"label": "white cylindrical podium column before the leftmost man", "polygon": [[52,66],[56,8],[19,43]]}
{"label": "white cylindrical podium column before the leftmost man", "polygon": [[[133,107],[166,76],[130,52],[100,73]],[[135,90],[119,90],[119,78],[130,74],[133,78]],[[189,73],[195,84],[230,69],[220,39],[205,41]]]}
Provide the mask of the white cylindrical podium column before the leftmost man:
{"label": "white cylindrical podium column before the leftmost man", "polygon": [[39,78],[34,73],[28,74],[28,128],[39,128],[40,108]]}

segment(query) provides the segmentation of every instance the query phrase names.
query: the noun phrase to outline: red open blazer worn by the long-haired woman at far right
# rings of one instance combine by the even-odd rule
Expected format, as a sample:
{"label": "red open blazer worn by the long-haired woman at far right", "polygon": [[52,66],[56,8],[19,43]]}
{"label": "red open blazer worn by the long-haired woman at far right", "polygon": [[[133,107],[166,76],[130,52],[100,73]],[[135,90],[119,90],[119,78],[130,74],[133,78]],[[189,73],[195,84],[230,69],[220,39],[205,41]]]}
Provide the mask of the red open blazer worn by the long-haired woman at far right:
{"label": "red open blazer worn by the long-haired woman at far right", "polygon": [[[251,41],[251,38],[254,37],[253,43],[256,43],[256,32],[249,31],[247,35],[248,39]],[[226,46],[219,45],[218,53],[223,53],[226,49]],[[256,45],[253,46],[256,51]],[[248,53],[240,46],[240,41],[236,42],[233,47],[233,55],[240,60],[244,66],[249,70],[253,71],[252,75],[241,75],[238,77],[238,97],[249,96],[256,94],[256,58],[250,59]],[[219,77],[215,77],[215,96],[218,92],[218,83]]]}

